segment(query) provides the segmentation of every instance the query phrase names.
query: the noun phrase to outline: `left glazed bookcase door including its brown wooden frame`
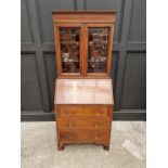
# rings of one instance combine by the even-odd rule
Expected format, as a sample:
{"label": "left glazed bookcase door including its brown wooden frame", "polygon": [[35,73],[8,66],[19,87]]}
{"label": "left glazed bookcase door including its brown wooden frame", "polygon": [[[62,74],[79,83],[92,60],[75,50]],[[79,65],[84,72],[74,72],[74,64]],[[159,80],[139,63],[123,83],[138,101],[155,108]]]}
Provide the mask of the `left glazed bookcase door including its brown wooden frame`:
{"label": "left glazed bookcase door including its brown wooden frame", "polygon": [[57,77],[82,77],[83,25],[56,24],[54,33]]}

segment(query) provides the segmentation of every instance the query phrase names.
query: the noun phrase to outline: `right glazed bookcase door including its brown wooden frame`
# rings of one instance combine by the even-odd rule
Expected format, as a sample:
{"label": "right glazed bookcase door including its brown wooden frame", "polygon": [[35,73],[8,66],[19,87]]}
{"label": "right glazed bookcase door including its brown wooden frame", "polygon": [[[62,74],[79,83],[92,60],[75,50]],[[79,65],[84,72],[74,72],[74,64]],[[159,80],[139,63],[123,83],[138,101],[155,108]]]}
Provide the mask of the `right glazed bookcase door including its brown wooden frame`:
{"label": "right glazed bookcase door including its brown wooden frame", "polygon": [[114,26],[112,24],[86,24],[86,77],[109,77]]}

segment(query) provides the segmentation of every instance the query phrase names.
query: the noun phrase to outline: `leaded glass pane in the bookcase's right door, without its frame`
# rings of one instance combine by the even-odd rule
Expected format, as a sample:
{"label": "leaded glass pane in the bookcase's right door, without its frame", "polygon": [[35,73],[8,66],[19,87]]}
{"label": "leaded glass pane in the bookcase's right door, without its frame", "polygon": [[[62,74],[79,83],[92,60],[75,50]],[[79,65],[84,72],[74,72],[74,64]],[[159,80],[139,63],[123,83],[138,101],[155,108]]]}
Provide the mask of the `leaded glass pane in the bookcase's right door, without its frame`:
{"label": "leaded glass pane in the bookcase's right door, without its frame", "polygon": [[109,28],[89,28],[88,73],[106,73]]}

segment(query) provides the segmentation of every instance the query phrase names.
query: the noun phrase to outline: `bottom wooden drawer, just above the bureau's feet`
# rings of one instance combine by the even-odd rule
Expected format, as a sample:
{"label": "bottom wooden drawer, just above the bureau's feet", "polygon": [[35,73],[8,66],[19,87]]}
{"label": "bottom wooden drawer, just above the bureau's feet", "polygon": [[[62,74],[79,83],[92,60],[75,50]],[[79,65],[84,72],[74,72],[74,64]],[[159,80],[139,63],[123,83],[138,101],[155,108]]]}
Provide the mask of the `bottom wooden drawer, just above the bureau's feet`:
{"label": "bottom wooden drawer, just above the bureau's feet", "polygon": [[104,142],[108,141],[109,130],[69,130],[60,131],[60,140],[64,142]]}

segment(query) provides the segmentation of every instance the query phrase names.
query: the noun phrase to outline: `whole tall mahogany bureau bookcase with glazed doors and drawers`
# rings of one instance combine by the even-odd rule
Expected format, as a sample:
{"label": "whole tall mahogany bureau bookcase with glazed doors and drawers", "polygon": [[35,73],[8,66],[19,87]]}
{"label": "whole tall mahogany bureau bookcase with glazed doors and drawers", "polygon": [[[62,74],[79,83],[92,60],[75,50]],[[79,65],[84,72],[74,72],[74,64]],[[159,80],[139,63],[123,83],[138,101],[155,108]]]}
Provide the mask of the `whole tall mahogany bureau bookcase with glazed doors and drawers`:
{"label": "whole tall mahogany bureau bookcase with glazed doors and drawers", "polygon": [[115,11],[53,11],[59,150],[67,143],[109,147]]}

